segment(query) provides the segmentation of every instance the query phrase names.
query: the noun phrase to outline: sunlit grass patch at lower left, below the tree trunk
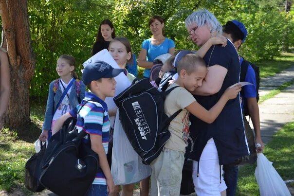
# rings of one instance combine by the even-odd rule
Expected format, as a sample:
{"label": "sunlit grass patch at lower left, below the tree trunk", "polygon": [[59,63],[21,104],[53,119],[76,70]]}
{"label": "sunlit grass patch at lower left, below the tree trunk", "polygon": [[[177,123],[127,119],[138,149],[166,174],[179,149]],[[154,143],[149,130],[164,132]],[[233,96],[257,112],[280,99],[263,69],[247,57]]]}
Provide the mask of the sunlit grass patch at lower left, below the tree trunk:
{"label": "sunlit grass patch at lower left, below the tree trunk", "polygon": [[35,153],[34,142],[37,140],[46,105],[31,107],[31,124],[25,130],[0,131],[0,190],[7,192],[20,187],[25,195],[31,195],[23,184],[24,166],[26,161]]}

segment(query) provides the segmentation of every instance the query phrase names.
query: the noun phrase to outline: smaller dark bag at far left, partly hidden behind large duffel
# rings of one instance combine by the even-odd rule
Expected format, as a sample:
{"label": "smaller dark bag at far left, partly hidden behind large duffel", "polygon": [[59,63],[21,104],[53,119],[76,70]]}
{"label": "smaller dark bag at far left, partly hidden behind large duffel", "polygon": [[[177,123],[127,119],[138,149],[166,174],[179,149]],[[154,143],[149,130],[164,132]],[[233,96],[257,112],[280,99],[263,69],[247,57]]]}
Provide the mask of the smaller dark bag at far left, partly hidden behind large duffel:
{"label": "smaller dark bag at far left, partly hidden behind large duffel", "polygon": [[24,185],[27,189],[34,193],[41,192],[45,187],[40,183],[39,178],[42,171],[42,165],[44,162],[44,155],[46,151],[46,143],[41,142],[41,150],[35,153],[26,163],[25,163],[25,173],[24,173]]}

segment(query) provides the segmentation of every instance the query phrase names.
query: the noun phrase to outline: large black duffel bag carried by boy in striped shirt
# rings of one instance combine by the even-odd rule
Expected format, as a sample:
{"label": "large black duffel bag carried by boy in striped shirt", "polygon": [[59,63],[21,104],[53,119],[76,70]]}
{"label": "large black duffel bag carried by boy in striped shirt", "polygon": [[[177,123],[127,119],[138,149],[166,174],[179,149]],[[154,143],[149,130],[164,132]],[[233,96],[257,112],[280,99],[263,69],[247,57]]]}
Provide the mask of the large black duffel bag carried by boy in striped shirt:
{"label": "large black duffel bag carried by boy in striped shirt", "polygon": [[[70,121],[75,119],[67,123]],[[77,133],[76,128],[70,131],[67,127],[71,126],[63,125],[48,143],[49,154],[43,165],[40,182],[58,196],[84,196],[97,174],[99,159],[91,149],[91,143],[83,141],[87,133]]]}

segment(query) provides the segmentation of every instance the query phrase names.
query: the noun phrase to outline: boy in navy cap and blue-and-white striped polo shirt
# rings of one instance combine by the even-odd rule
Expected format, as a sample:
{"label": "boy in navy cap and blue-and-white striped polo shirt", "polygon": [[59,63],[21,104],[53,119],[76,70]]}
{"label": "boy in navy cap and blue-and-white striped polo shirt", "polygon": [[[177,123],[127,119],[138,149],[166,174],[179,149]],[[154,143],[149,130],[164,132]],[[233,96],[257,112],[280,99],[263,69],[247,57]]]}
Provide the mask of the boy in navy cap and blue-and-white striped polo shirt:
{"label": "boy in navy cap and blue-and-white striped polo shirt", "polygon": [[[106,97],[113,97],[115,92],[115,76],[124,69],[113,69],[103,61],[89,64],[83,71],[82,80],[91,90],[85,93],[82,103],[70,112],[61,116],[55,123],[52,133],[56,133],[70,117],[76,117],[78,131],[87,132],[86,142],[91,141],[91,148],[99,156],[99,168],[96,177],[89,187],[86,196],[107,196],[114,191],[114,182],[106,158],[109,143],[110,121],[108,108],[104,102]],[[77,113],[79,108],[88,101]]]}

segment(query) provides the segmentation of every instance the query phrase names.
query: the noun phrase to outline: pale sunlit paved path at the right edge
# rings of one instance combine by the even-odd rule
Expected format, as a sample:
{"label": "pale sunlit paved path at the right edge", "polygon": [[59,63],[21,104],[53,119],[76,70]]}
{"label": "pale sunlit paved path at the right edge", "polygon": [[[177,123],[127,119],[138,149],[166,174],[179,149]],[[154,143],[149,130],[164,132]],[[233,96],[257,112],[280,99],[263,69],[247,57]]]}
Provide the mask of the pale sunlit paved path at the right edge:
{"label": "pale sunlit paved path at the right edge", "polygon": [[[259,94],[264,96],[271,90],[277,89],[285,82],[294,79],[294,66],[282,71],[275,76],[261,79]],[[268,99],[259,105],[261,137],[264,143],[268,143],[273,134],[280,130],[283,125],[294,121],[294,85],[282,90],[275,97]],[[251,125],[253,127],[253,125]],[[47,191],[38,196],[55,196]],[[133,196],[140,196],[138,190]],[[195,195],[190,195],[195,196]]]}

